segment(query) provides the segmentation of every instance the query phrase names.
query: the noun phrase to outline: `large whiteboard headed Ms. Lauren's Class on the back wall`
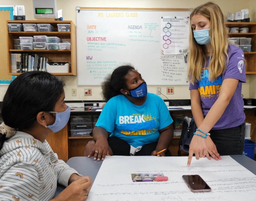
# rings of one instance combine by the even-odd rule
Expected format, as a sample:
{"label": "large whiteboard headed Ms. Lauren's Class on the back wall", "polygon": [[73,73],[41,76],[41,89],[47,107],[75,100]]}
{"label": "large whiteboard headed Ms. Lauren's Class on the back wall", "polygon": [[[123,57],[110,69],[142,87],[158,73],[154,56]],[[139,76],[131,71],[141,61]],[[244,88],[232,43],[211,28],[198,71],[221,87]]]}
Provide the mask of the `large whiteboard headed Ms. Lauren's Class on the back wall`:
{"label": "large whiteboard headed Ms. Lauren's Class on the back wall", "polygon": [[[183,41],[183,46],[178,45],[180,41],[168,45],[166,43],[170,43],[167,40],[169,36],[163,38],[169,28],[167,20],[164,19],[189,18],[188,9],[169,11],[78,8],[78,85],[100,85],[107,74],[126,64],[134,66],[148,85],[188,84],[184,53],[188,49],[189,28],[186,33],[182,32],[187,34],[187,42]],[[175,23],[172,23],[171,28],[176,30]],[[166,53],[168,48],[175,49],[175,52]]]}

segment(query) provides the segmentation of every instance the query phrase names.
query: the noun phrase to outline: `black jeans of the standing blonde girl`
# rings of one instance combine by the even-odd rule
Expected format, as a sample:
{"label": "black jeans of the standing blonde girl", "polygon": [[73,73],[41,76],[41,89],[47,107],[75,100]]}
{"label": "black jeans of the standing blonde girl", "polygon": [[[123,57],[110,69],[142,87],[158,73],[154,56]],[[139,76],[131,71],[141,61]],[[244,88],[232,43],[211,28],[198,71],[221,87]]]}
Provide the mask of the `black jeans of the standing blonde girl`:
{"label": "black jeans of the standing blonde girl", "polygon": [[245,123],[233,128],[210,130],[209,133],[220,155],[243,154]]}

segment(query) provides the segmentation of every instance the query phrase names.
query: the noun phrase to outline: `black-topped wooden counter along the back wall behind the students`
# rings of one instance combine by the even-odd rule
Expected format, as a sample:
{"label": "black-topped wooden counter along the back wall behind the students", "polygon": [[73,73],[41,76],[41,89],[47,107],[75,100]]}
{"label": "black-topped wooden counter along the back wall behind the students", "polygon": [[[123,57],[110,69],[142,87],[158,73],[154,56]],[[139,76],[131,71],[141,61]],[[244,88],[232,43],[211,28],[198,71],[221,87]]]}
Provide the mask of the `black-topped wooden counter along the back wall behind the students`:
{"label": "black-topped wooden counter along the back wall behind the students", "polygon": [[[255,101],[253,99],[253,101]],[[68,105],[75,105],[81,101],[66,101]],[[85,104],[82,105],[98,103],[101,104],[103,101],[84,101]],[[190,99],[186,100],[165,100],[167,105],[184,107],[190,104]],[[82,106],[81,105],[81,106]],[[253,105],[256,105],[253,102]],[[245,106],[245,115],[246,122],[251,123],[251,140],[256,142],[256,108],[246,108]],[[256,106],[255,106],[256,107]],[[192,116],[191,110],[169,110],[171,116],[175,117],[184,117],[184,116]],[[71,110],[71,116],[94,116],[97,117],[101,114],[99,111],[88,111],[87,108],[76,108],[75,110]],[[174,122],[175,123],[175,122]],[[175,125],[173,124],[175,127]],[[175,129],[174,129],[175,130]],[[176,131],[174,131],[174,139],[171,141],[169,146],[169,150],[172,156],[178,156],[178,144],[179,144],[179,136],[175,136]],[[63,130],[57,132],[56,134],[50,134],[47,137],[47,141],[53,148],[54,152],[58,154],[59,158],[67,161],[71,157],[75,156],[83,156],[84,147],[87,142],[92,139],[91,136],[81,136],[81,137],[71,137],[69,134],[69,123]],[[63,144],[60,146],[60,144]]]}

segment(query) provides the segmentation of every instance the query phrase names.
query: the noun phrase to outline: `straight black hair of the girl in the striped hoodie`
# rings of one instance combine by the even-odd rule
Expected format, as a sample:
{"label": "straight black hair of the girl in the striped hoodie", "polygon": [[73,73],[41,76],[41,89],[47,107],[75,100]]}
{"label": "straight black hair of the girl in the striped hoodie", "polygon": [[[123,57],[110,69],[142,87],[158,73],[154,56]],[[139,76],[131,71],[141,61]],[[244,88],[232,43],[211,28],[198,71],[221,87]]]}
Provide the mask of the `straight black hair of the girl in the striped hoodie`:
{"label": "straight black hair of the girl in the striped hoodie", "polygon": [[2,118],[7,126],[28,129],[41,111],[50,112],[65,83],[44,71],[25,72],[9,85],[2,104]]}

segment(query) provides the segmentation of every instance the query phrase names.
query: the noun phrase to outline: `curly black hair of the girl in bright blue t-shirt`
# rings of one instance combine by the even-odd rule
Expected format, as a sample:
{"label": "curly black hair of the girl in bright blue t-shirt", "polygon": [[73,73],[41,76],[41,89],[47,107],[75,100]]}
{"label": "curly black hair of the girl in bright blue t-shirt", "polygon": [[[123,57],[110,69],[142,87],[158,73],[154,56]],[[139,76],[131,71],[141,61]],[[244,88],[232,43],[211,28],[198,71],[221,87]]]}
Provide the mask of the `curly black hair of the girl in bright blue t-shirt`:
{"label": "curly black hair of the girl in bright blue t-shirt", "polygon": [[133,66],[119,66],[117,67],[111,75],[106,76],[104,82],[102,83],[102,95],[103,99],[108,101],[114,96],[122,94],[121,89],[126,88],[125,76],[130,70],[135,70]]}

